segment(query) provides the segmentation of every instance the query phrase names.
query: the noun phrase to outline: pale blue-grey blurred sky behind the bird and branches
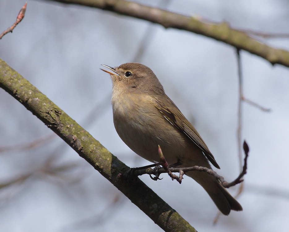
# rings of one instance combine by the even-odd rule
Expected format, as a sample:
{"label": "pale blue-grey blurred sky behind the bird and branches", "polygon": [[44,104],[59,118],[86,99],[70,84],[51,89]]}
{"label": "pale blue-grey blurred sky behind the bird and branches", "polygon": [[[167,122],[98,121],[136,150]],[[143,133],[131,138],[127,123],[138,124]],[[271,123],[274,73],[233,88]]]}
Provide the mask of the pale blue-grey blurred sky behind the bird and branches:
{"label": "pale blue-grey blurred sky behind the bird and branches", "polygon": [[[138,1],[157,6],[159,1]],[[11,26],[25,1],[0,2],[0,31]],[[176,1],[170,11],[231,27],[289,33],[285,0]],[[109,75],[101,64],[134,61],[148,27],[154,29],[138,62],[150,67],[166,94],[193,123],[228,181],[239,174],[237,156],[238,77],[235,49],[222,42],[108,11],[28,1],[23,21],[0,40],[0,58],[89,131],[128,166],[148,165],[118,137],[112,121]],[[288,38],[259,38],[289,50]],[[190,178],[179,185],[163,175],[141,179],[197,231],[264,232],[289,230],[289,69],[241,51],[244,95],[270,108],[243,104],[243,139],[250,147],[242,212],[221,216]],[[0,89],[0,149],[53,134],[23,105]],[[57,136],[33,148],[0,153],[0,183],[21,175],[23,183],[0,190],[0,231],[162,231]],[[47,175],[43,166],[75,164]],[[234,195],[236,187],[229,191]],[[178,199],[178,200],[176,200]]]}

